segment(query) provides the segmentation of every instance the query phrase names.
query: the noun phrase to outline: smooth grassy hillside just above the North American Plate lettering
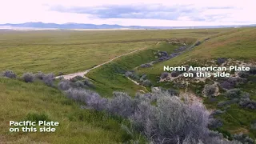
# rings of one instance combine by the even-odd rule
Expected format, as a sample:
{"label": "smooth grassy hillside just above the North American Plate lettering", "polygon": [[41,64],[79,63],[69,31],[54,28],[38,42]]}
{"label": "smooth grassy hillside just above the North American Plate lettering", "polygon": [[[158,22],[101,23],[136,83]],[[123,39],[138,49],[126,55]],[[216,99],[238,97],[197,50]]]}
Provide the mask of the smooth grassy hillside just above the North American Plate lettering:
{"label": "smooth grassy hillside just above the North American Plate lettering", "polygon": [[[201,38],[202,39],[202,38]],[[211,58],[235,58],[256,61],[256,28],[234,29],[213,35],[213,38],[203,42],[176,58],[159,63],[153,68],[140,70],[141,73],[161,74],[163,66],[180,66],[184,62],[207,60]]]}

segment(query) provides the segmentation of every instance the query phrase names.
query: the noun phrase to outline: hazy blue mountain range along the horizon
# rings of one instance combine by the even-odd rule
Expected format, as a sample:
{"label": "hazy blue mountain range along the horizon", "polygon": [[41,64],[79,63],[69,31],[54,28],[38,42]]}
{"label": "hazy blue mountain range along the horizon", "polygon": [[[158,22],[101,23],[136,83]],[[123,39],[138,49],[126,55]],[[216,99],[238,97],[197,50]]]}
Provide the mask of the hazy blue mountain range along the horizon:
{"label": "hazy blue mountain range along the horizon", "polygon": [[43,22],[26,22],[19,24],[0,24],[0,28],[34,28],[34,29],[207,29],[207,28],[225,28],[225,27],[246,27],[253,25],[238,25],[238,26],[120,26],[120,25],[94,25],[83,23],[43,23]]}

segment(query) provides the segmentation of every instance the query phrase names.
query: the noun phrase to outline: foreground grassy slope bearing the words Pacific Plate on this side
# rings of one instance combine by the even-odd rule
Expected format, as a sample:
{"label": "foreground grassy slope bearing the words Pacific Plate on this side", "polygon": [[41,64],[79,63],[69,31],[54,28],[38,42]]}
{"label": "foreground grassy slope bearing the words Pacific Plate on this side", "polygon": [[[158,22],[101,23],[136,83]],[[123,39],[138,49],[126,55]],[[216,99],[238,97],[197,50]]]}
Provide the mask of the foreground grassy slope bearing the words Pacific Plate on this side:
{"label": "foreground grassy slope bearing the words Pacific Plate on this side", "polygon": [[[59,90],[40,82],[26,83],[0,78],[0,142],[31,143],[119,143],[126,137],[116,118],[91,110],[82,110],[78,103]],[[46,114],[60,126],[51,134],[8,133],[9,121],[30,120],[26,114]]]}

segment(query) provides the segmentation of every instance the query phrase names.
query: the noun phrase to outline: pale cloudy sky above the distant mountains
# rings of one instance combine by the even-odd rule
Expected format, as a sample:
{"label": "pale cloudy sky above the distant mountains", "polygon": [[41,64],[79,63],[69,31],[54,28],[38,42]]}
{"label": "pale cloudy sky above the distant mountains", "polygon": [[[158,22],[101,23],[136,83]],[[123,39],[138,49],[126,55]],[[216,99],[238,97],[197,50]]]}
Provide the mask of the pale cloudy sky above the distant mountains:
{"label": "pale cloudy sky above the distant mountains", "polygon": [[256,23],[256,0],[0,0],[0,23],[225,26]]}

